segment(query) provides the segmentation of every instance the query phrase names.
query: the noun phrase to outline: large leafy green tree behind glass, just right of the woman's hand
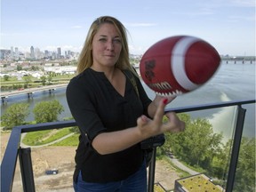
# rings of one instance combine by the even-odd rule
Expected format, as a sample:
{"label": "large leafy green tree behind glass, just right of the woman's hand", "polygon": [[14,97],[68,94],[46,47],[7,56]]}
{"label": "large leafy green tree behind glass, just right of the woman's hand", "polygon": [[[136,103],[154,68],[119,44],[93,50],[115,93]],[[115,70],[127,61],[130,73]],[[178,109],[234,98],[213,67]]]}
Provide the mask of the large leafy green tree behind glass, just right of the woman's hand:
{"label": "large leafy green tree behind glass, just right of the woman's hand", "polygon": [[211,167],[212,159],[221,152],[222,134],[213,133],[212,124],[207,119],[192,121],[186,114],[180,115],[180,119],[185,122],[186,129],[165,136],[168,148],[190,165]]}

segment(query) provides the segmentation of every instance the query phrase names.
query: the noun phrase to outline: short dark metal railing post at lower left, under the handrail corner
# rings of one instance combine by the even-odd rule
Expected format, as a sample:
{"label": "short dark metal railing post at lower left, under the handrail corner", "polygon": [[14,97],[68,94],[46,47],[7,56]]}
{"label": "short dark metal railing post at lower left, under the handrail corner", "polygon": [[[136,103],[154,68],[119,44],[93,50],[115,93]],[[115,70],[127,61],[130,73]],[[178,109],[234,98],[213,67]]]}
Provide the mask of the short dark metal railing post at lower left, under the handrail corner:
{"label": "short dark metal railing post at lower left, under the handrail corner", "polygon": [[36,189],[31,161],[31,148],[20,148],[19,159],[23,191],[35,192]]}

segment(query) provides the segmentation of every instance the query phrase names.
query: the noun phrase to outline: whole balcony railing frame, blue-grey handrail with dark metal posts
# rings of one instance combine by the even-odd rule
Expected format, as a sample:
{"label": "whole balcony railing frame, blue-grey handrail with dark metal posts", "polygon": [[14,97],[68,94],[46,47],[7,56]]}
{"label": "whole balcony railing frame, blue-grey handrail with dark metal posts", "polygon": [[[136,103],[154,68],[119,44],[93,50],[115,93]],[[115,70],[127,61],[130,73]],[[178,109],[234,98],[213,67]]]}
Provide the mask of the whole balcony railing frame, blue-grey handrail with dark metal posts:
{"label": "whole balcony railing frame, blue-grey handrail with dark metal posts", "polygon": [[[236,165],[239,156],[240,142],[242,139],[242,133],[244,128],[244,117],[246,109],[242,108],[242,105],[255,103],[255,100],[239,100],[228,101],[214,104],[205,104],[199,106],[190,106],[184,108],[172,108],[166,109],[168,111],[175,111],[176,113],[194,112],[198,110],[212,109],[212,108],[224,108],[224,107],[237,107],[235,134],[233,138],[233,147],[231,152],[231,158],[228,168],[228,180],[226,185],[226,191],[231,192],[234,187],[234,180],[236,177]],[[255,114],[254,114],[255,116]],[[12,184],[14,179],[14,173],[16,169],[17,159],[19,156],[20,172],[22,179],[23,191],[33,192],[36,191],[34,183],[34,174],[32,169],[32,161],[30,156],[30,148],[20,148],[21,133],[24,132],[37,132],[43,130],[52,130],[59,128],[66,128],[76,126],[74,120],[60,121],[45,124],[29,124],[14,127],[9,138],[3,161],[1,164],[1,191],[12,191]],[[155,164],[156,164],[156,148],[154,148],[153,161],[149,165],[148,172],[148,191],[154,190],[155,182]]]}

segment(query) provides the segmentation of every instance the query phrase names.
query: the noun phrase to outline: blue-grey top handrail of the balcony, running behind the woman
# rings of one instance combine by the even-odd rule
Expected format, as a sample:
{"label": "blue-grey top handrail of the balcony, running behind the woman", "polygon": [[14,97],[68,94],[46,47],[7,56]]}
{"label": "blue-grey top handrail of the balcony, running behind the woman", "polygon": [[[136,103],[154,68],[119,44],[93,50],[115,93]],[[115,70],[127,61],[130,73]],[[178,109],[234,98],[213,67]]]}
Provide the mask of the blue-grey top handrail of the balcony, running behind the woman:
{"label": "blue-grey top handrail of the balcony, running behind the woman", "polygon": [[[214,104],[182,107],[182,108],[166,108],[165,112],[175,111],[176,113],[182,113],[182,112],[191,112],[191,111],[211,109],[211,108],[241,106],[244,104],[252,104],[252,103],[255,103],[255,100],[236,100],[236,101],[228,101],[228,102],[221,102],[221,103],[214,103]],[[1,164],[1,191],[4,191],[4,192],[12,191],[12,183],[14,178],[18,151],[20,148],[20,138],[21,138],[22,132],[36,132],[36,131],[42,131],[42,130],[65,128],[70,126],[76,126],[75,120],[44,123],[44,124],[28,124],[28,125],[20,125],[20,126],[13,127],[12,133],[10,135],[10,138],[4,153],[3,161]]]}

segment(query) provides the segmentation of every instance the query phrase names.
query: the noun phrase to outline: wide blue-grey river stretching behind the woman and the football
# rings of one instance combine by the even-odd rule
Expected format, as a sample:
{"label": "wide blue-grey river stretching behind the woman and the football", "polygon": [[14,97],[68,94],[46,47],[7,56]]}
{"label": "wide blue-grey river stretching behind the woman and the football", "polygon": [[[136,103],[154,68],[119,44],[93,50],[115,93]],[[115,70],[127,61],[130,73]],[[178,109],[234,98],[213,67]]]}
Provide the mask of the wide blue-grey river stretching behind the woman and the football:
{"label": "wide blue-grey river stretching behind the woman and the football", "polygon": [[[143,83],[142,83],[143,84]],[[146,84],[143,84],[148,96],[153,99],[155,94]],[[66,88],[55,90],[52,94],[48,91],[36,92],[33,99],[28,99],[27,95],[12,96],[7,99],[6,103],[1,103],[1,114],[4,114],[6,108],[13,103],[27,102],[30,108],[30,114],[27,121],[34,120],[32,109],[36,103],[44,100],[59,100],[60,104],[65,108],[59,116],[71,116],[68,109],[68,103],[65,95]],[[254,100],[255,99],[255,61],[242,63],[236,61],[225,61],[221,63],[220,68],[214,76],[202,87],[194,92],[189,92],[178,96],[167,108],[179,108],[200,104],[212,104],[229,100]],[[244,122],[244,136],[255,137],[255,104],[244,105],[246,108],[246,116]],[[222,132],[224,138],[232,137],[234,122],[236,119],[236,108],[215,108],[204,111],[191,112],[192,118],[206,117],[213,126],[214,132]]]}

